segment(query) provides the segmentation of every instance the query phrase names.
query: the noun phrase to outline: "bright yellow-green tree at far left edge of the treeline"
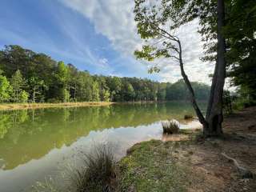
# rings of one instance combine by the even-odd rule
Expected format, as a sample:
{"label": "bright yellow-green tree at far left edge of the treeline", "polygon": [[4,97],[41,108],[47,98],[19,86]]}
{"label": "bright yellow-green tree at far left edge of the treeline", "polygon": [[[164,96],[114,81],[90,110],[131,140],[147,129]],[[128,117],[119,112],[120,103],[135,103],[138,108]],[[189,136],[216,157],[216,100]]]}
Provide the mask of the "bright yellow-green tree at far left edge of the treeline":
{"label": "bright yellow-green tree at far left edge of the treeline", "polygon": [[5,76],[0,75],[0,102],[9,102],[13,88]]}

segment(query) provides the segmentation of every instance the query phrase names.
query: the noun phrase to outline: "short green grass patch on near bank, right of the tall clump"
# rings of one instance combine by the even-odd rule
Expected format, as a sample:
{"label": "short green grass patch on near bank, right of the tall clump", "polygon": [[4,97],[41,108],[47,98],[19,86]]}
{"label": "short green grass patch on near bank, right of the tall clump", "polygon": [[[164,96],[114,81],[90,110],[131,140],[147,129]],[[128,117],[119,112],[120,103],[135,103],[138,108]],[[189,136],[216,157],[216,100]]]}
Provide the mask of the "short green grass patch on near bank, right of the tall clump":
{"label": "short green grass patch on near bank, right of the tall clump", "polygon": [[119,162],[121,191],[186,191],[190,168],[174,157],[175,148],[187,142],[141,142]]}

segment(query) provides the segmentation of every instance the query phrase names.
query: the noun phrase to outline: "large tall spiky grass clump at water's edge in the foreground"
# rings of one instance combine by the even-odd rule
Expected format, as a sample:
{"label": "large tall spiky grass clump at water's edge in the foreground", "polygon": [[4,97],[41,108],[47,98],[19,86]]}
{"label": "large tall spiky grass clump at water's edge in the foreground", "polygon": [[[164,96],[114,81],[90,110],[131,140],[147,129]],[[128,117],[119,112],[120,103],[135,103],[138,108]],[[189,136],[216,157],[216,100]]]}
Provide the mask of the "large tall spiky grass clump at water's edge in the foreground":
{"label": "large tall spiky grass clump at water's edge in the foreground", "polygon": [[115,191],[116,162],[114,154],[107,146],[97,146],[89,154],[84,154],[82,166],[70,174],[77,192]]}

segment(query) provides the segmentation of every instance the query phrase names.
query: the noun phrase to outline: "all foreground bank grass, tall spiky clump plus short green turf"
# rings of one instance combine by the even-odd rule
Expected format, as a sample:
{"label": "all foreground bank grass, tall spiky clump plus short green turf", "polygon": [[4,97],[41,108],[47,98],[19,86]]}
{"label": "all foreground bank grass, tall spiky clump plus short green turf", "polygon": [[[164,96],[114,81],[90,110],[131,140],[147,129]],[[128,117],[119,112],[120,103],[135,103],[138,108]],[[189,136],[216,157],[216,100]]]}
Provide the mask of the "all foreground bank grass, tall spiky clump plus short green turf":
{"label": "all foreground bank grass, tall spiky clump plus short green turf", "polygon": [[[105,145],[94,146],[90,153],[80,154],[79,166],[65,171],[65,190],[56,186],[54,179],[38,182],[35,192],[150,192],[187,191],[193,182],[188,162],[180,162],[177,150],[189,146],[201,134],[200,130],[181,130],[190,137],[180,142],[151,140],[140,142],[127,150],[119,162]],[[189,159],[193,153],[184,154]],[[66,184],[65,184],[66,185]]]}

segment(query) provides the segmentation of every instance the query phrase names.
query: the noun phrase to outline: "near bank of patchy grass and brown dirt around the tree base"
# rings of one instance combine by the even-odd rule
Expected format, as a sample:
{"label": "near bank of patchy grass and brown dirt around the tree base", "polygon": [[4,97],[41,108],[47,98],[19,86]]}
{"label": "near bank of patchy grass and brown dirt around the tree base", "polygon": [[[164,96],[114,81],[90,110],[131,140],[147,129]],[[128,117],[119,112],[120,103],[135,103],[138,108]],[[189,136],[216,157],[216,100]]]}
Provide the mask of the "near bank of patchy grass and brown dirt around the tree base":
{"label": "near bank of patchy grass and brown dirt around the tree base", "polygon": [[[256,107],[225,118],[221,139],[202,139],[200,130],[175,141],[138,143],[119,162],[124,191],[256,191],[233,162],[256,174]],[[186,135],[186,136],[184,136]],[[178,139],[179,138],[179,139]]]}

